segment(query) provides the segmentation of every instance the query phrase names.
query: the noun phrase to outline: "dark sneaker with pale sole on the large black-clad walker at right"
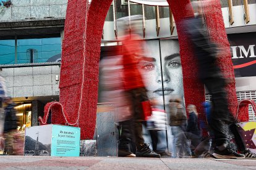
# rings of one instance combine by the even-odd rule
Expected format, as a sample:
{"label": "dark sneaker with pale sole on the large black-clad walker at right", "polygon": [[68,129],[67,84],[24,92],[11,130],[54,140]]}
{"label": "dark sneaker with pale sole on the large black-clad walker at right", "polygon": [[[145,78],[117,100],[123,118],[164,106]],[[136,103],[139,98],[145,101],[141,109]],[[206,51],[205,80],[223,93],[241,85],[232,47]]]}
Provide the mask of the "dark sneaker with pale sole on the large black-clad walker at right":
{"label": "dark sneaker with pale sole on the large black-clad walker at right", "polygon": [[224,150],[220,151],[218,148],[215,148],[213,152],[213,157],[216,159],[244,159],[244,154],[235,152],[229,147],[226,147]]}

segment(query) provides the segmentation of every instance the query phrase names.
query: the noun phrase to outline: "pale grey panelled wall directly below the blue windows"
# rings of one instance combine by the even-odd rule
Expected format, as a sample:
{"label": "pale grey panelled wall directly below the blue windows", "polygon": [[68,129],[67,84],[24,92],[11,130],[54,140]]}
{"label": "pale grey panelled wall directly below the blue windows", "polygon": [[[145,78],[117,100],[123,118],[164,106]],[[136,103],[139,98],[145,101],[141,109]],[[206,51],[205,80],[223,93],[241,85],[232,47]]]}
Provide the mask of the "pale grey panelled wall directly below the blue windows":
{"label": "pale grey panelled wall directly below the blue windows", "polygon": [[59,65],[40,67],[2,68],[8,95],[11,97],[38,97],[59,94]]}

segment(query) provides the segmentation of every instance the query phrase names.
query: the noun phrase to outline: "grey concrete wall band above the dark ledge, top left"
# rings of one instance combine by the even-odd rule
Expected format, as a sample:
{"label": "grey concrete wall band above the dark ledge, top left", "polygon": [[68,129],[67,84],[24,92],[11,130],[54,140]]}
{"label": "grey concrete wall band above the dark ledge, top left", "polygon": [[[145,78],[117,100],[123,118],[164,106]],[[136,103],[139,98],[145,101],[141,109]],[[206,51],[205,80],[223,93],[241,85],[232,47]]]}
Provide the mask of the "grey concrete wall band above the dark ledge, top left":
{"label": "grey concrete wall band above the dark ledge, top left", "polygon": [[46,17],[66,17],[68,0],[12,0],[12,6],[5,9],[0,22],[12,20],[33,20]]}

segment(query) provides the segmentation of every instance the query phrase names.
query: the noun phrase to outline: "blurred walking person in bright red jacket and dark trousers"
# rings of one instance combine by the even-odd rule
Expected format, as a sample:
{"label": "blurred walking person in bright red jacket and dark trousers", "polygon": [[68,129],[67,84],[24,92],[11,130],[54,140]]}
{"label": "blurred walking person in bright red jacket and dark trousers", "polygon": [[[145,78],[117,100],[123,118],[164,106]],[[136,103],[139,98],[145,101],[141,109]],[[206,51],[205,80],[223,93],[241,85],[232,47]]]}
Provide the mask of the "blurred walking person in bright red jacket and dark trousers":
{"label": "blurred walking person in bright red jacket and dark trousers", "polygon": [[122,46],[120,47],[123,84],[132,105],[136,156],[159,158],[160,155],[150,149],[150,144],[145,144],[142,136],[142,124],[147,119],[147,113],[151,111],[151,105],[138,67],[139,60],[144,54],[143,41],[140,41],[142,38],[136,33],[140,28],[142,29],[140,23],[142,23],[142,15],[133,15],[130,18],[123,17],[117,20],[117,25],[122,27],[124,33],[124,36],[121,37]]}

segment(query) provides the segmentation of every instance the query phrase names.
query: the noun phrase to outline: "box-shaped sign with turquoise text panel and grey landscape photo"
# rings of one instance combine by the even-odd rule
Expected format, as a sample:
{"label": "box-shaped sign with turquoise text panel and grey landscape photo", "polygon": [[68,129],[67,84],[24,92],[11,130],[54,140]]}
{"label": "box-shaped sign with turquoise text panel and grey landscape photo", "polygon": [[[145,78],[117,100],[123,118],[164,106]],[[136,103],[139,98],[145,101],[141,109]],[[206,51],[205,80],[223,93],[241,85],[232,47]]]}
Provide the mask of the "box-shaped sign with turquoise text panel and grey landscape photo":
{"label": "box-shaped sign with turquoise text panel and grey landscape photo", "polygon": [[79,156],[80,128],[47,124],[25,129],[26,156]]}

